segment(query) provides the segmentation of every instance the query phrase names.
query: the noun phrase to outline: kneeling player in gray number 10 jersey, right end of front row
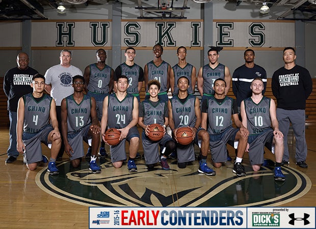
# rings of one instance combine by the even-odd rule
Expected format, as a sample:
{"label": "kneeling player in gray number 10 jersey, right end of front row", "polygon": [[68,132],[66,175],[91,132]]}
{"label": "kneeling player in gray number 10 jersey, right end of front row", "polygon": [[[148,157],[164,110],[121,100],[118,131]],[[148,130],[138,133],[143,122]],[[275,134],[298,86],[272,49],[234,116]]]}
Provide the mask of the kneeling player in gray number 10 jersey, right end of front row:
{"label": "kneeling player in gray number 10 jersey, right end of front row", "polygon": [[[252,96],[241,103],[243,125],[249,129],[249,160],[254,171],[258,171],[264,163],[265,145],[271,151],[275,145],[274,180],[284,181],[281,162],[284,151],[283,134],[279,130],[276,118],[276,107],[273,99],[262,95],[264,82],[260,77],[251,83]],[[272,128],[271,128],[272,124]]]}

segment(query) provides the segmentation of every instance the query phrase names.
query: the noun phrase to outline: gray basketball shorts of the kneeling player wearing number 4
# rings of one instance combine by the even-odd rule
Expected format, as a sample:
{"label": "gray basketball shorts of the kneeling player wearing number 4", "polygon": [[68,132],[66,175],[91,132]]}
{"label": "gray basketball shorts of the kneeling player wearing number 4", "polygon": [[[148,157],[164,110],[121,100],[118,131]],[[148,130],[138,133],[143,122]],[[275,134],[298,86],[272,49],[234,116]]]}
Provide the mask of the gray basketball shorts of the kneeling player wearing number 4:
{"label": "gray basketball shorts of the kneeling player wearing number 4", "polygon": [[48,146],[48,134],[52,130],[54,128],[50,124],[47,124],[37,133],[23,132],[22,139],[25,146],[24,161],[27,164],[39,162],[43,159],[41,142]]}

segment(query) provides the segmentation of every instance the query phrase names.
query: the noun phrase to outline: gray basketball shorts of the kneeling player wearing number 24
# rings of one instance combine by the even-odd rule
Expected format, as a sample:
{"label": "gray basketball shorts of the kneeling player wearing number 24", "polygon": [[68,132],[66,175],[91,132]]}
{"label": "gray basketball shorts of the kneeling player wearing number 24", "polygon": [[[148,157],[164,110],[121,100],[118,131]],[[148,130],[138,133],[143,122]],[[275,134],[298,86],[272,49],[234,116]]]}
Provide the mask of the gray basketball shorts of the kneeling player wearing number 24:
{"label": "gray basketball shorts of the kneeling player wearing number 24", "polygon": [[126,138],[121,140],[119,144],[117,144],[115,146],[110,146],[110,153],[111,153],[111,161],[112,161],[112,163],[117,162],[117,161],[124,161],[124,160],[126,160],[125,141],[127,140],[129,142],[130,139],[133,138],[133,137],[140,138],[139,132],[138,132],[136,126],[133,126],[132,128],[129,129]]}

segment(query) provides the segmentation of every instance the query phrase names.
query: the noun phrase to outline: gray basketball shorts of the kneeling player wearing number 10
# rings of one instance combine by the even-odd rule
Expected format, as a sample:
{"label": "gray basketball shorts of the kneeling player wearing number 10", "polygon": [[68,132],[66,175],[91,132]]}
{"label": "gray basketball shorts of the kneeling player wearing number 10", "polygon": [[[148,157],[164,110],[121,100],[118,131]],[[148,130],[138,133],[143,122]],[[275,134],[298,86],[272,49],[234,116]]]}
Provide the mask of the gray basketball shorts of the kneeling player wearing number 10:
{"label": "gray basketball shorts of the kneeling player wearing number 10", "polygon": [[251,165],[264,163],[265,146],[272,150],[273,137],[273,129],[248,137],[249,161]]}

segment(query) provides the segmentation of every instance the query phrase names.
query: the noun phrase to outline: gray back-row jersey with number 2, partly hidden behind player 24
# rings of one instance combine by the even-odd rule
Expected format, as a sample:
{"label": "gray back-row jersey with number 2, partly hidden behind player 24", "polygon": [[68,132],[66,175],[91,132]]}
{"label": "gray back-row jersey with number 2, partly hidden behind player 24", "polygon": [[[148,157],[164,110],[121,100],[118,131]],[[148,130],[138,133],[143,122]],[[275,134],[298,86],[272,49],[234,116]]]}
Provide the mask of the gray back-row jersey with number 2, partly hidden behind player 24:
{"label": "gray back-row jersey with number 2, partly hidden behind player 24", "polygon": [[138,94],[138,80],[140,74],[140,66],[134,64],[133,66],[128,66],[125,63],[120,65],[121,74],[125,75],[128,78],[128,88],[127,93],[129,94]]}

